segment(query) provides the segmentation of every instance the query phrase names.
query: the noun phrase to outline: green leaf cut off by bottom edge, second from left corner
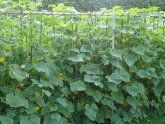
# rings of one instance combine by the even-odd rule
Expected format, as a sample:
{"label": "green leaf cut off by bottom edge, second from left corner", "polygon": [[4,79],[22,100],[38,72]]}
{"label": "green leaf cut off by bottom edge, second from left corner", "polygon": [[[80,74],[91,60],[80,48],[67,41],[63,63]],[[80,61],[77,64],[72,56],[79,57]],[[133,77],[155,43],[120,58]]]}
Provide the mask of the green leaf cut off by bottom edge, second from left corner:
{"label": "green leaf cut off by bottom edge, second from left corner", "polygon": [[40,117],[37,115],[21,116],[20,124],[40,124]]}

